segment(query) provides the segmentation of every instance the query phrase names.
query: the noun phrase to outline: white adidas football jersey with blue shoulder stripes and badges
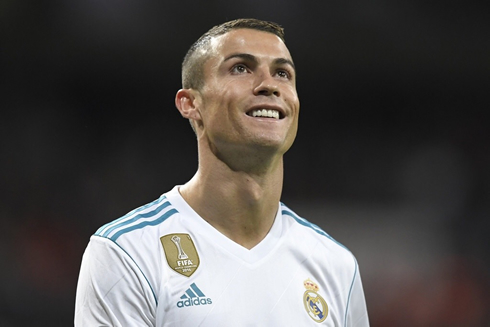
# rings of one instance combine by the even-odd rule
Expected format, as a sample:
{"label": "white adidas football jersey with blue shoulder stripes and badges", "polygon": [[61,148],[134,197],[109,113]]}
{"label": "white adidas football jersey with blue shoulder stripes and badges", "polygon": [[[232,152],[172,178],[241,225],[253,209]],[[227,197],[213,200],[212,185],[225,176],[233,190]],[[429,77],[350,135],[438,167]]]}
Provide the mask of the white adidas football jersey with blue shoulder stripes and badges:
{"label": "white adidas football jersey with blue shoulder stripes and badges", "polygon": [[369,326],[354,256],[282,203],[248,250],[175,187],[101,227],[77,287],[76,326]]}

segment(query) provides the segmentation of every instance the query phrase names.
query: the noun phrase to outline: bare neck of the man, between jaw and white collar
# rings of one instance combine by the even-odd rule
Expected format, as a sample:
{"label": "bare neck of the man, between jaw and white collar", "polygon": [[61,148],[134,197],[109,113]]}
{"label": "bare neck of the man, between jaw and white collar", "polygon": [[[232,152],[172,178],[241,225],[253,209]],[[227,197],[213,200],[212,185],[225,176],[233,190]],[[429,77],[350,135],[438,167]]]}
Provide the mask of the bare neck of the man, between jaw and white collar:
{"label": "bare neck of the man, between jaw and white collar", "polygon": [[274,223],[282,183],[282,156],[254,171],[237,170],[216,157],[200,156],[196,175],[180,193],[218,231],[251,249]]}

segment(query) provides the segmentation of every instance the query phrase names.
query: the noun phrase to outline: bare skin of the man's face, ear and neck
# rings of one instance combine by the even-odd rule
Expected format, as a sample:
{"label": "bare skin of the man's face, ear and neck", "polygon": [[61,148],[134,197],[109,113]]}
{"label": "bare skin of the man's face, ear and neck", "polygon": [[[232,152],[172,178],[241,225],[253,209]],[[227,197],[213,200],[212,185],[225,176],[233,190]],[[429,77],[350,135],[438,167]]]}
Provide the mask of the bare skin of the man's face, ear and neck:
{"label": "bare skin of the man's face, ear and neck", "polygon": [[[277,213],[283,155],[298,127],[296,73],[286,45],[271,33],[232,30],[209,51],[203,88],[175,98],[195,127],[199,157],[180,193],[218,231],[251,249]],[[280,119],[249,115],[257,108],[277,109]]]}

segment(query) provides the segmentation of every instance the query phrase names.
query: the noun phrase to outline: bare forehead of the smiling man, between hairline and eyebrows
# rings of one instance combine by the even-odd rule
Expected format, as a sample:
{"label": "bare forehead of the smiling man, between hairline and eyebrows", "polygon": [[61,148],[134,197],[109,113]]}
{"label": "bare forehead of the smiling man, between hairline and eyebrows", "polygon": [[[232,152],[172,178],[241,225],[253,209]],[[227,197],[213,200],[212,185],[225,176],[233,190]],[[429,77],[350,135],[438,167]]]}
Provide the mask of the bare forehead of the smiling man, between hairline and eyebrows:
{"label": "bare forehead of the smiling man, between hairline and eyebrows", "polygon": [[275,34],[253,29],[235,29],[211,40],[212,57],[226,58],[234,53],[247,53],[263,58],[291,59],[284,42]]}

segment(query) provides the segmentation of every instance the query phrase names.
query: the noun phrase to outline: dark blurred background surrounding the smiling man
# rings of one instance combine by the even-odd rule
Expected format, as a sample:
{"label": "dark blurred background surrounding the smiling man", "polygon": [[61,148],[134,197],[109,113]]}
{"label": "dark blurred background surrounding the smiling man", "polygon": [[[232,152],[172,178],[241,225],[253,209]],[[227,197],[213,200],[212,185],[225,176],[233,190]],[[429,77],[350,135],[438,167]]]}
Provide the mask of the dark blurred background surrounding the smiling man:
{"label": "dark blurred background surrounding the smiling man", "polygon": [[485,1],[0,1],[0,326],[73,325],[102,224],[183,184],[174,107],[210,27],[279,22],[298,69],[283,202],[357,257],[374,327],[490,326]]}

